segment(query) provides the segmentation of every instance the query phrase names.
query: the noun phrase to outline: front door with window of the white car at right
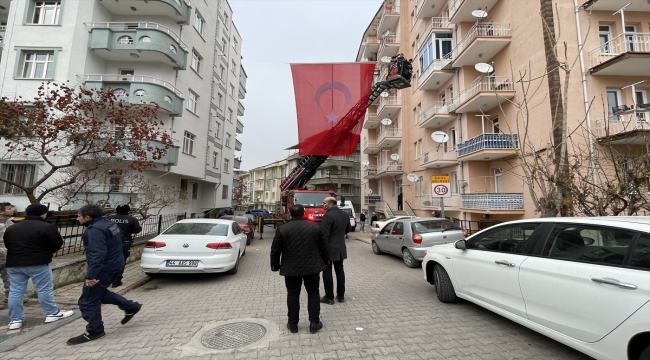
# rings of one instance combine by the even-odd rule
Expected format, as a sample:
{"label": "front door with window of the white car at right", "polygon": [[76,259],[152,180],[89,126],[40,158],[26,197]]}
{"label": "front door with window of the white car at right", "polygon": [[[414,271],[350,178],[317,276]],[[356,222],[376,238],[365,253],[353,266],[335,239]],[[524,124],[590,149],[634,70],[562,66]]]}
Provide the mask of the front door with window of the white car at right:
{"label": "front door with window of the white car at right", "polygon": [[533,245],[541,229],[540,223],[515,223],[471,237],[467,250],[455,252],[452,260],[459,291],[525,318],[519,266],[528,257],[526,245]]}

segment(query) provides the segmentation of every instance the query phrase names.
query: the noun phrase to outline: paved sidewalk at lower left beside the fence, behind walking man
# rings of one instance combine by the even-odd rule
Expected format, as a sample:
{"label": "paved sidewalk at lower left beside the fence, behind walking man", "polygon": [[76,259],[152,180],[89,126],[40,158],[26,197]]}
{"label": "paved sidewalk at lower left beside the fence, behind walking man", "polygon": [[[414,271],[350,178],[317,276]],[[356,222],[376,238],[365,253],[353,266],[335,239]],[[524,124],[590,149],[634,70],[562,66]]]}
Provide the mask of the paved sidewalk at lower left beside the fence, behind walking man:
{"label": "paved sidewalk at lower left beside the fence, behind walking man", "polygon": [[[132,261],[126,265],[122,286],[110,288],[111,291],[118,294],[125,294],[135,288],[142,286],[151,280],[140,269],[140,260]],[[74,310],[74,314],[67,319],[58,320],[53,323],[45,324],[45,314],[38,303],[38,299],[30,298],[24,304],[25,321],[20,330],[9,330],[9,310],[0,310],[0,353],[14,349],[27,341],[57,329],[69,322],[81,317],[77,300],[81,295],[82,283],[77,282],[54,289],[54,298],[60,309]],[[6,305],[5,305],[6,306]],[[0,355],[0,358],[2,355]]]}

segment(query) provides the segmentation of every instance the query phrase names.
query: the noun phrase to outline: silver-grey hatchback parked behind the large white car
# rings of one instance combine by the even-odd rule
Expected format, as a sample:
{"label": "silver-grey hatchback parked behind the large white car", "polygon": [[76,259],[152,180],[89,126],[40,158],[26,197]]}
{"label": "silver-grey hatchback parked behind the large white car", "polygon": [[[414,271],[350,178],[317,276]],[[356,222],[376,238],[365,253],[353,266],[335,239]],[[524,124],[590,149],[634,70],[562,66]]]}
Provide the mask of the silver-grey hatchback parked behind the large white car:
{"label": "silver-grey hatchback parked behind the large white car", "polygon": [[420,266],[425,250],[433,245],[465,238],[463,230],[444,218],[406,218],[389,222],[372,234],[372,252],[400,256],[411,268]]}

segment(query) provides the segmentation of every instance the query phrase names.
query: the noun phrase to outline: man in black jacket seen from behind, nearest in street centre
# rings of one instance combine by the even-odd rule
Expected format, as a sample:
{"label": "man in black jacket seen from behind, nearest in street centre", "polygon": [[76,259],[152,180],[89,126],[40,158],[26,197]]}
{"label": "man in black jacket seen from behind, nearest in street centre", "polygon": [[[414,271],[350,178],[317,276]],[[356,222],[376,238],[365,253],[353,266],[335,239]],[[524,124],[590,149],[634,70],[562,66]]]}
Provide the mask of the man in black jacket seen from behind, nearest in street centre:
{"label": "man in black jacket seen from behind, nearest in street centre", "polygon": [[309,332],[317,333],[323,327],[320,321],[319,273],[328,260],[327,243],[319,234],[318,224],[304,218],[305,208],[294,205],[289,211],[292,219],[280,226],[271,244],[271,271],[280,271],[287,286],[287,328],[298,332],[300,288],[305,282]]}

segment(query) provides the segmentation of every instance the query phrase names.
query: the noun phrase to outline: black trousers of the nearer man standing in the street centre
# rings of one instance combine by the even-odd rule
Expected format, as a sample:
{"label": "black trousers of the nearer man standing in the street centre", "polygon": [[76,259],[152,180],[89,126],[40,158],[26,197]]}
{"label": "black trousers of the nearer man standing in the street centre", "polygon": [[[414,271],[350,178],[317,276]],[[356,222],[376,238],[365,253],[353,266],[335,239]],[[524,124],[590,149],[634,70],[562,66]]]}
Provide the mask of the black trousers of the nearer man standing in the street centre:
{"label": "black trousers of the nearer man standing in the street centre", "polygon": [[284,283],[287,286],[287,308],[289,312],[289,324],[297,325],[300,320],[300,290],[302,283],[305,282],[307,290],[307,311],[309,312],[309,322],[317,323],[320,321],[320,294],[319,283],[320,276],[318,273],[305,276],[285,276]]}

